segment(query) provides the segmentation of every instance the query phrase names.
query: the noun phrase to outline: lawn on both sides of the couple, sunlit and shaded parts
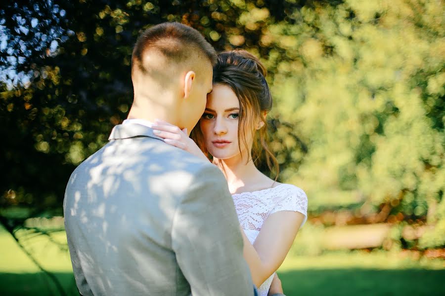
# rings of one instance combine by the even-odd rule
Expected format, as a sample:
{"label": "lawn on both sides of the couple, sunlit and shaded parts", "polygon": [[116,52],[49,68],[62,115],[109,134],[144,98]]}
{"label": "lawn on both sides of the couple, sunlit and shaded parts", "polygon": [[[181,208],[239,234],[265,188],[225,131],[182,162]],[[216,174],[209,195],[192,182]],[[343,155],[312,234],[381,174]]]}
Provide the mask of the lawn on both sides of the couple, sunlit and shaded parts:
{"label": "lawn on both sides of the couple, sunlit and shaded parts", "polygon": [[[64,233],[55,239],[63,242]],[[44,236],[29,239],[28,250],[59,280],[66,295],[78,295],[69,256]],[[400,252],[337,252],[289,256],[278,274],[287,296],[445,295],[445,260],[417,259]],[[60,295],[58,289],[0,229],[1,295]]]}

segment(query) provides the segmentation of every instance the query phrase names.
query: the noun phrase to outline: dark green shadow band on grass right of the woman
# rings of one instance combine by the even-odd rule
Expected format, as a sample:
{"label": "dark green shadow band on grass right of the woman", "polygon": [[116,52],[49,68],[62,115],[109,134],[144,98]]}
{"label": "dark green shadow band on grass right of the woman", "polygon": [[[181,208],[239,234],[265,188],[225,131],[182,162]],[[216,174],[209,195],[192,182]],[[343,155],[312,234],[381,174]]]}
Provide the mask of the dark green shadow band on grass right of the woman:
{"label": "dark green shadow band on grass right of the woman", "polygon": [[278,276],[286,296],[445,295],[445,269],[306,269]]}

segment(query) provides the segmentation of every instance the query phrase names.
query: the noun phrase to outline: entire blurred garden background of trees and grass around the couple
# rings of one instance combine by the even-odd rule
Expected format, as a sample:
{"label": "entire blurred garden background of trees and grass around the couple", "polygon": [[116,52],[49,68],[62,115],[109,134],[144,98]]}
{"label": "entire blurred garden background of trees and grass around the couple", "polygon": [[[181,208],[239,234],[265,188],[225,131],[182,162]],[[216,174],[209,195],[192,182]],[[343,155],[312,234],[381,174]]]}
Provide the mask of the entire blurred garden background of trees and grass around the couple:
{"label": "entire blurred garden background of trees and grass around the couple", "polygon": [[309,197],[286,295],[445,295],[441,0],[3,2],[1,295],[77,294],[64,189],[126,118],[136,37],[165,21],[267,66],[279,181]]}

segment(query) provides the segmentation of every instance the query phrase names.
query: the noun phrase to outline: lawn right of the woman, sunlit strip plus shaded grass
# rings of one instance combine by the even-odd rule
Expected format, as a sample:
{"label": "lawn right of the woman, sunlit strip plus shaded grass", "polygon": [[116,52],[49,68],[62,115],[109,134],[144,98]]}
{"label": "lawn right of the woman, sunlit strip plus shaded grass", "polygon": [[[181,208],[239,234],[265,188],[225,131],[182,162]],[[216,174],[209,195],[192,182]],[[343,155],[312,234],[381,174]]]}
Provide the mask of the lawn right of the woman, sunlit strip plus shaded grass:
{"label": "lawn right of the woman, sunlit strip plus shaded grass", "polygon": [[400,252],[337,252],[287,258],[278,271],[287,296],[445,295],[445,261]]}

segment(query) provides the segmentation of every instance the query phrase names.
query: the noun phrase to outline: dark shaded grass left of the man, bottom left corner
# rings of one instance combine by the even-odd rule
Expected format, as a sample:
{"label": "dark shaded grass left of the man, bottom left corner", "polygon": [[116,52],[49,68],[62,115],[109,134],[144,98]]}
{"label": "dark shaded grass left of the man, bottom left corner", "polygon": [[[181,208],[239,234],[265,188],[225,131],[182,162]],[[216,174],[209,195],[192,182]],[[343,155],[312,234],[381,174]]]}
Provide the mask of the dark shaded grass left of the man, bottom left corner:
{"label": "dark shaded grass left of the man, bottom left corner", "polygon": [[[79,296],[73,273],[53,274],[58,278],[66,296]],[[59,296],[54,283],[43,272],[39,273],[4,273],[0,272],[0,294],[14,296]]]}

